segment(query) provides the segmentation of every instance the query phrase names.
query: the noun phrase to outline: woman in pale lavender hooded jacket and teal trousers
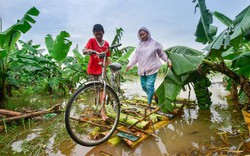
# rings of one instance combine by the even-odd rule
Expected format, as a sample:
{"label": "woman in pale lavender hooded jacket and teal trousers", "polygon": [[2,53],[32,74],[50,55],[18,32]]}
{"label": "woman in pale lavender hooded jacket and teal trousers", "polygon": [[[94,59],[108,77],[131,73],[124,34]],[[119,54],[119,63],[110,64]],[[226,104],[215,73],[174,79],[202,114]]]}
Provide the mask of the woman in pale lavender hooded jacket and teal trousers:
{"label": "woman in pale lavender hooded jacket and teal trousers", "polygon": [[160,59],[167,62],[170,68],[172,67],[172,63],[163,51],[162,45],[151,38],[151,34],[147,28],[142,27],[139,29],[137,36],[140,42],[127,65],[126,71],[138,63],[141,86],[147,94],[148,108],[150,109],[155,91],[155,79],[161,67]]}

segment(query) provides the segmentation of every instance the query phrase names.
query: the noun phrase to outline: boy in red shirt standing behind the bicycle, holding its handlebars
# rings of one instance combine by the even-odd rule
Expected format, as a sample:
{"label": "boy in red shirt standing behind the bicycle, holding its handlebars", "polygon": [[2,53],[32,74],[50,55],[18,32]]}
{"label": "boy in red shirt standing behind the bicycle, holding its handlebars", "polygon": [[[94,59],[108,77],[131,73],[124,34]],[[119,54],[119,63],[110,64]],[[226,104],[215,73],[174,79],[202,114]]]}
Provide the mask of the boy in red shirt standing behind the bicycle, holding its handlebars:
{"label": "boy in red shirt standing behind the bicycle, holding its handlebars", "polygon": [[[93,34],[94,38],[90,38],[87,45],[85,46],[83,50],[83,54],[89,54],[92,50],[97,52],[104,52],[109,48],[109,43],[105,40],[103,40],[103,34],[104,29],[101,24],[95,24],[93,27]],[[110,51],[107,52],[107,57],[110,56]],[[100,59],[96,54],[90,55],[87,73],[89,75],[89,81],[97,81],[100,80],[101,74],[102,74],[102,66],[99,64],[99,62],[102,62],[103,60]],[[107,59],[107,63],[108,63]],[[101,95],[102,97],[102,95]],[[105,108],[101,109],[100,115],[102,119],[105,121],[108,119]]]}

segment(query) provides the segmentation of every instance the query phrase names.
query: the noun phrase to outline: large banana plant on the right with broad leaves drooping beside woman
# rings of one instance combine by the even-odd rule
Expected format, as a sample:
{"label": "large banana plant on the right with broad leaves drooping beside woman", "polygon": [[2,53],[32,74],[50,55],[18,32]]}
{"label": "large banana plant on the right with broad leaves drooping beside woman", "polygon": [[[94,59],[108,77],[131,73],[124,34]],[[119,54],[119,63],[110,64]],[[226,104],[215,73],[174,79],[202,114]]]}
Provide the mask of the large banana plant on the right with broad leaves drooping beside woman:
{"label": "large banana plant on the right with broad leaves drooping beside woman", "polygon": [[[193,0],[196,2],[197,0]],[[173,62],[172,70],[168,70],[164,82],[156,90],[159,95],[160,106],[163,111],[172,111],[173,103],[181,89],[185,85],[192,84],[197,77],[209,74],[209,71],[217,71],[239,85],[248,99],[250,98],[249,82],[249,31],[250,31],[250,6],[244,9],[234,20],[225,15],[212,13],[206,7],[205,0],[198,0],[196,8],[199,7],[201,18],[195,32],[196,41],[208,44],[205,48],[207,55],[197,55],[191,61],[185,61],[187,47],[173,47],[166,52]],[[215,36],[217,28],[212,25],[213,16],[228,26],[219,36]],[[176,55],[176,53],[179,53]],[[191,55],[192,56],[192,55]],[[190,64],[190,65],[188,65]],[[202,73],[202,74],[201,74]],[[229,86],[231,84],[229,83]],[[232,85],[233,86],[233,85]],[[237,87],[235,87],[237,88]],[[248,101],[248,104],[250,102]]]}

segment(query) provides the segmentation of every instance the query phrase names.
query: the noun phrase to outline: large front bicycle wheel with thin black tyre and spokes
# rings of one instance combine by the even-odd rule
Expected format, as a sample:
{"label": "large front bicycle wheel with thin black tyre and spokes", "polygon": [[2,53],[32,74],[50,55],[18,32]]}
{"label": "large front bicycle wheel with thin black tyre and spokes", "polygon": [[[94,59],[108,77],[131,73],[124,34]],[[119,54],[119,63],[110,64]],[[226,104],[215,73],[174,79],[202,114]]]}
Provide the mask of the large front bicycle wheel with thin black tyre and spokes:
{"label": "large front bicycle wheel with thin black tyre and spokes", "polygon": [[[101,96],[105,94],[105,112],[112,120],[100,117]],[[115,91],[108,85],[91,82],[80,88],[69,100],[65,112],[65,125],[71,138],[83,146],[96,146],[105,142],[119,122],[120,103]]]}

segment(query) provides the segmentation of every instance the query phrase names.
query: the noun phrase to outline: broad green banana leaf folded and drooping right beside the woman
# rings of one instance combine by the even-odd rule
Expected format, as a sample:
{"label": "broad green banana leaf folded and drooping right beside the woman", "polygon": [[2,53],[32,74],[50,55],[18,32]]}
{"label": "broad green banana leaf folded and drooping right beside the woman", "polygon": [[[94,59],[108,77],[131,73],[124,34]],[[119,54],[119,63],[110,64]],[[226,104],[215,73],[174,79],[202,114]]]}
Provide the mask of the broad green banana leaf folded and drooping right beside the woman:
{"label": "broad green banana leaf folded and drooping right beside the woman", "polygon": [[157,88],[159,104],[163,111],[172,111],[172,102],[180,93],[181,89],[197,66],[201,64],[203,53],[184,46],[171,47],[165,50],[172,61],[172,69],[166,73],[164,82]]}

